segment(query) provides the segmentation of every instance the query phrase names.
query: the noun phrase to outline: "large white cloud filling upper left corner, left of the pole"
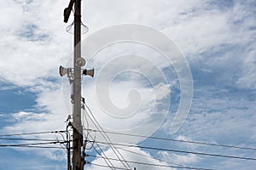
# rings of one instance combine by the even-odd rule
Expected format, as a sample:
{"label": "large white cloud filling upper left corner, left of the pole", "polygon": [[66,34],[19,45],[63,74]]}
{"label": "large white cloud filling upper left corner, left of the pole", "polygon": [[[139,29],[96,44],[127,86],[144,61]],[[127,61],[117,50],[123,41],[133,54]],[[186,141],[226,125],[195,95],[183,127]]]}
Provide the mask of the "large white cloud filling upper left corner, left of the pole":
{"label": "large white cloud filling upper left corner, left of the pole", "polygon": [[[61,14],[52,14],[55,19],[48,15],[51,14],[49,6],[57,8],[61,1],[37,2],[1,5],[1,15],[11,16],[3,17],[9,21],[2,22],[4,25],[1,26],[4,32],[0,46],[0,59],[4,60],[0,64],[1,78],[19,86],[32,86],[42,77],[55,77],[57,65],[67,58],[70,53],[68,49],[71,49],[68,48],[71,43],[67,41],[67,34],[60,31]],[[26,7],[26,10],[22,7]]]}

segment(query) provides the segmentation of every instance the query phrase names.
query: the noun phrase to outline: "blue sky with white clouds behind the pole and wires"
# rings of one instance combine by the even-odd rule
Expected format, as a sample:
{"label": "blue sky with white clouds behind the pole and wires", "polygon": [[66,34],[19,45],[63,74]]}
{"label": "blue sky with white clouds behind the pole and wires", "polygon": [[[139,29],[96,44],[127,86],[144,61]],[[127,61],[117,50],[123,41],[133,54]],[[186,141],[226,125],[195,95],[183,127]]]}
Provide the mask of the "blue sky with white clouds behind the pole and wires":
{"label": "blue sky with white clouds behind the pole and wires", "polygon": [[[70,87],[67,77],[59,76],[58,67],[72,66],[73,35],[67,33],[66,27],[72,24],[73,17],[67,24],[63,22],[68,3],[0,2],[0,135],[65,130],[65,121],[72,111]],[[86,68],[96,70],[93,79],[83,78],[83,97],[97,122],[105,130],[256,148],[255,6],[255,0],[82,1],[82,21],[89,27],[82,36],[82,50]],[[102,35],[102,29],[124,24],[148,26],[169,37],[178,60],[170,64],[164,54],[139,42],[118,42],[102,48],[93,57],[87,55],[90,53],[86,49],[92,48],[90,42]],[[141,34],[146,35],[143,31]],[[118,35],[105,34],[96,44]],[[147,41],[161,40],[150,36],[147,35]],[[160,47],[170,48],[166,43]],[[179,59],[188,64],[182,67],[189,66],[183,77],[179,76],[183,69],[180,71],[176,65]],[[188,85],[190,74],[193,86],[183,86],[182,78]],[[182,96],[188,97],[190,88],[193,98],[189,114],[184,116],[183,126],[173,133],[172,124]],[[90,123],[90,111],[84,113],[84,127],[88,126],[87,120],[89,127],[96,129]],[[22,137],[62,139],[58,133]],[[100,133],[90,133],[91,140],[93,137],[104,141]],[[122,147],[119,152],[129,161],[208,169],[247,170],[256,166],[252,160],[168,151],[256,159],[255,150],[119,135],[110,138],[119,144],[167,149]],[[24,143],[0,139],[0,145],[20,142]],[[114,158],[113,150],[100,146],[106,156]],[[93,149],[88,153],[96,155]],[[63,150],[0,147],[0,154],[1,169],[67,168]],[[88,160],[106,165],[101,158]],[[114,167],[124,166],[119,161],[112,162]],[[137,169],[178,169],[130,165]],[[102,169],[93,165],[86,168]]]}

